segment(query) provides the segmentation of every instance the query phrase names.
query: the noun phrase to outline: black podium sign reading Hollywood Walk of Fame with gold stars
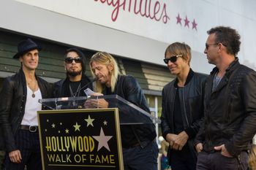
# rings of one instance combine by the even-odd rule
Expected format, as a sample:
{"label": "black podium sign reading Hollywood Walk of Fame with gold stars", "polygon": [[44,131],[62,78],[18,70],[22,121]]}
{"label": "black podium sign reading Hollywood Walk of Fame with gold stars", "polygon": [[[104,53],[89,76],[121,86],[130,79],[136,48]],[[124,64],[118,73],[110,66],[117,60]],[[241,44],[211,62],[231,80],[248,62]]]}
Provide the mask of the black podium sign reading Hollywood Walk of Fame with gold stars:
{"label": "black podium sign reading Hollywood Walk of Fame with gold stars", "polygon": [[124,169],[118,109],[38,112],[44,170]]}

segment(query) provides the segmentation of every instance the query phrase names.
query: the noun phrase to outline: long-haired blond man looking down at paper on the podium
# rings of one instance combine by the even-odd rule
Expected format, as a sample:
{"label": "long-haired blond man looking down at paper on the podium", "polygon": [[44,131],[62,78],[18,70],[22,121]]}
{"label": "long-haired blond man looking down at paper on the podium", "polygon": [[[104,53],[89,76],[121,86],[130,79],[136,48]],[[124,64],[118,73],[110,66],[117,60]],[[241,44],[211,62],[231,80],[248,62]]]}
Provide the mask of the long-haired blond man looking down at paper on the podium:
{"label": "long-haired blond man looking down at paper on the podium", "polygon": [[[112,55],[105,52],[94,54],[91,57],[90,67],[91,73],[97,78],[94,88],[97,93],[93,96],[117,94],[149,112],[140,85],[134,77],[118,74],[118,66]],[[86,101],[86,107],[108,108],[111,107],[110,105],[105,99]],[[123,110],[124,108],[119,108],[119,112]],[[124,169],[157,170],[158,147],[154,124],[121,125],[120,128]]]}

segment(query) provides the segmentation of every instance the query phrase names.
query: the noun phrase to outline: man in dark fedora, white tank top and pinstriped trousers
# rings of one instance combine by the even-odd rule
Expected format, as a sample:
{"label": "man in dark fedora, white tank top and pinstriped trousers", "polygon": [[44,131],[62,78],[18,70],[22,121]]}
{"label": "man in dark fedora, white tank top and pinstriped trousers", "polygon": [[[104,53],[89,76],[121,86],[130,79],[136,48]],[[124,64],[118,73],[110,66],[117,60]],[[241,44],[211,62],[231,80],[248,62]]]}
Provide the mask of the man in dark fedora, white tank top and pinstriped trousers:
{"label": "man in dark fedora, white tank top and pinstriped trousers", "polygon": [[18,44],[20,71],[4,80],[0,93],[0,124],[4,138],[6,170],[42,169],[37,111],[44,109],[38,103],[50,98],[52,88],[37,77],[39,47],[31,39]]}

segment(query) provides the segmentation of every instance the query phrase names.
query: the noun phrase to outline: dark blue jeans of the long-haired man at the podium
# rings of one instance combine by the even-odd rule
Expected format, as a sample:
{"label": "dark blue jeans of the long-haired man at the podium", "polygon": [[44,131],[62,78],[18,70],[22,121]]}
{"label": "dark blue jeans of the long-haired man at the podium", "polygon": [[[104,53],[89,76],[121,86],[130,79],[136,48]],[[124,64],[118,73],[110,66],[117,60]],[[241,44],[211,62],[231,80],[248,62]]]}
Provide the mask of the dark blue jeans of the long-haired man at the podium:
{"label": "dark blue jeans of the long-haired man at the podium", "polygon": [[124,170],[157,170],[157,157],[155,140],[145,147],[123,148]]}

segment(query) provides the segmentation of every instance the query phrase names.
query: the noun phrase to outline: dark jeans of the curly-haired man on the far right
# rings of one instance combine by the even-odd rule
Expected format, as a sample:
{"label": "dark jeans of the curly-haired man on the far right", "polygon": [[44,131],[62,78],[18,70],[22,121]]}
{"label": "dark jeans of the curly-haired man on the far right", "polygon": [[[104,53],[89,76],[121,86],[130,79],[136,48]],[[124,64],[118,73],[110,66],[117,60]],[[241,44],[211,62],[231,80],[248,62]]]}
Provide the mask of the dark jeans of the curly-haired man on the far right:
{"label": "dark jeans of the curly-haired man on the far right", "polygon": [[246,170],[248,167],[248,153],[240,153],[238,158],[229,158],[220,152],[199,152],[197,170]]}

